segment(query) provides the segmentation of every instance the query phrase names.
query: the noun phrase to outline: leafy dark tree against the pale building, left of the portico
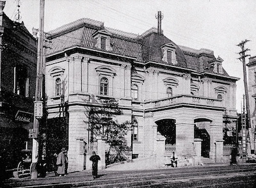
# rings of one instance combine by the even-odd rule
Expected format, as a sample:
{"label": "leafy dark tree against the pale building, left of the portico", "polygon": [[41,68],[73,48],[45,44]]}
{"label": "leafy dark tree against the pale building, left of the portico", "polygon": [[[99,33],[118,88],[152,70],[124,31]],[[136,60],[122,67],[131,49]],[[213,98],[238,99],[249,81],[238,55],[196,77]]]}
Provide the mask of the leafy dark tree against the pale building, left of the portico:
{"label": "leafy dark tree against the pale building, left of the portico", "polygon": [[[102,100],[102,106],[90,110],[89,130],[93,136],[100,136],[106,139],[106,143],[109,145],[106,164],[116,162],[118,158],[122,158],[124,151],[129,150],[125,135],[130,129],[131,122],[118,123],[116,116],[121,114],[123,114],[123,111],[113,98]],[[115,153],[111,153],[113,150],[115,150]],[[110,160],[110,153],[115,155],[113,160]]]}

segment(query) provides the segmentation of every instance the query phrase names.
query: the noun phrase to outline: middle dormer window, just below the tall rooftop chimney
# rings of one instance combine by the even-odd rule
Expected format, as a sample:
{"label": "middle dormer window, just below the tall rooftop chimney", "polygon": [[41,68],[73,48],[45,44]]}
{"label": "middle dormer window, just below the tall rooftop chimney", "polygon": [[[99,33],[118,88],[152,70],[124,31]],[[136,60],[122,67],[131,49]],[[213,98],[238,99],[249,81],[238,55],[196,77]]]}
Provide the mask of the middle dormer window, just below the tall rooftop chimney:
{"label": "middle dormer window, just below the tall rooftop chimney", "polygon": [[176,65],[176,47],[173,43],[166,43],[162,46],[163,58],[162,60],[168,64]]}

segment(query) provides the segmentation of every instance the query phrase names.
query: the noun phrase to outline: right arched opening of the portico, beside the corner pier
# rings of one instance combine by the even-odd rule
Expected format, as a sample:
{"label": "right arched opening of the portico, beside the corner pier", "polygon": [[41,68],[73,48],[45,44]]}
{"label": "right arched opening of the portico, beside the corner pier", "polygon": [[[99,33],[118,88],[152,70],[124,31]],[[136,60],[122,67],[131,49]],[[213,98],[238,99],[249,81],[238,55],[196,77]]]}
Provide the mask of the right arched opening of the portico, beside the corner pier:
{"label": "right arched opening of the portico, beside the corner pier", "polygon": [[211,136],[209,135],[211,120],[198,118],[194,120],[194,137],[202,139],[201,156],[209,158],[211,150]]}

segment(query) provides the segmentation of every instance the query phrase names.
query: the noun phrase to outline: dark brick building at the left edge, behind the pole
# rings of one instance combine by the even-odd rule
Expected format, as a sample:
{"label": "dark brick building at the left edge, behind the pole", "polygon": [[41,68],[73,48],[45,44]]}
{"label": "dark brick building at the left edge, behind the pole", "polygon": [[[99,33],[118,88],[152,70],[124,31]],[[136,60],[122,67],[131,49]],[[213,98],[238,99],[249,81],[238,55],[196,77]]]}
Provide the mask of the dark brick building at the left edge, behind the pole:
{"label": "dark brick building at the left edge, behind the pole", "polygon": [[24,23],[10,20],[0,1],[0,155],[7,168],[17,168],[21,150],[31,149],[36,40]]}

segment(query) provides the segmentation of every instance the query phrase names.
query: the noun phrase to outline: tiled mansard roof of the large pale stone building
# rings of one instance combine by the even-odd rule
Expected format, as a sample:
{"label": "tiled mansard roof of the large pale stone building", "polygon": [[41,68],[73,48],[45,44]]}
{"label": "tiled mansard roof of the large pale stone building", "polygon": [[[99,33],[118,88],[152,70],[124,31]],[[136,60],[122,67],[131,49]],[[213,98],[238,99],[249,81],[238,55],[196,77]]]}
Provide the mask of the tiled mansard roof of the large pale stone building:
{"label": "tiled mansard roof of the large pale stone building", "polygon": [[[111,51],[95,47],[97,40],[93,36],[97,33],[106,33],[110,37]],[[216,59],[213,51],[209,49],[197,50],[177,45],[166,36],[157,34],[155,27],[148,29],[142,35],[136,35],[104,27],[104,22],[97,20],[79,19],[49,31],[48,34],[47,38],[52,41],[50,43],[51,49],[47,49],[48,56],[63,52],[70,47],[86,47],[87,49],[132,57],[140,63],[151,61],[166,64],[162,60],[163,47],[172,45],[172,47],[175,47],[177,59],[177,63],[173,66],[193,69],[198,73],[216,74],[209,63],[209,61]],[[225,70],[223,70],[223,75],[228,76]]]}

